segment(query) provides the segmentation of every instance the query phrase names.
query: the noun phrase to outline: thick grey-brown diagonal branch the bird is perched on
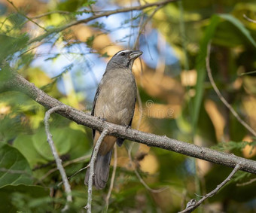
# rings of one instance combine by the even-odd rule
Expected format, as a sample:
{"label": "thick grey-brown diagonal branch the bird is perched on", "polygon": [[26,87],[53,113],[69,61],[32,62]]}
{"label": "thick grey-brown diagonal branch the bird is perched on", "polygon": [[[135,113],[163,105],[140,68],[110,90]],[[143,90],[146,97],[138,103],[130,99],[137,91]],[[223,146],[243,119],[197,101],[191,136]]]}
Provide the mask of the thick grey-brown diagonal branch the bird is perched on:
{"label": "thick grey-brown diagonal branch the bird is perched on", "polygon": [[[34,99],[45,108],[53,108],[56,106],[66,106],[62,102],[48,96],[42,90],[35,87],[34,84],[29,83],[21,75],[14,73],[12,78],[3,82],[0,85],[1,89],[17,90],[25,93],[30,98]],[[240,163],[240,170],[256,174],[256,161],[248,160],[242,157],[237,157],[234,154],[227,154],[221,151],[215,151],[210,148],[203,148],[197,145],[192,145],[183,141],[178,141],[166,137],[166,135],[154,135],[151,133],[141,132],[135,129],[127,129],[124,126],[115,125],[100,120],[98,117],[93,117],[90,114],[78,111],[75,108],[69,107],[68,111],[56,111],[56,113],[75,121],[75,123],[88,126],[92,129],[99,130],[108,129],[108,135],[114,135],[119,138],[126,138],[130,141],[136,141],[151,147],[163,148],[169,151],[175,151],[179,154],[184,154],[190,157],[196,157],[201,160],[206,160],[212,163],[218,163],[224,166],[235,167]]]}

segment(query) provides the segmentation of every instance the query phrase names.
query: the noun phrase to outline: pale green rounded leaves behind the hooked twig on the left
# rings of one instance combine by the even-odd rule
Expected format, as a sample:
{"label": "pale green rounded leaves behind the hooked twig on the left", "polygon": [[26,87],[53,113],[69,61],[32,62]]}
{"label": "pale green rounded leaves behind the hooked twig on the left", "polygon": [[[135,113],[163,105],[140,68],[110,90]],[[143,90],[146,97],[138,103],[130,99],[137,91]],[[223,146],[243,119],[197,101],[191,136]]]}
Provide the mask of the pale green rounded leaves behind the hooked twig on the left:
{"label": "pale green rounded leaves behind the hooked twig on the left", "polygon": [[[65,127],[52,128],[50,132],[59,155],[69,154],[69,159],[72,160],[89,154],[90,143],[87,141],[87,135],[81,130]],[[35,135],[18,135],[14,140],[14,147],[26,157],[31,168],[54,160],[44,128]]]}

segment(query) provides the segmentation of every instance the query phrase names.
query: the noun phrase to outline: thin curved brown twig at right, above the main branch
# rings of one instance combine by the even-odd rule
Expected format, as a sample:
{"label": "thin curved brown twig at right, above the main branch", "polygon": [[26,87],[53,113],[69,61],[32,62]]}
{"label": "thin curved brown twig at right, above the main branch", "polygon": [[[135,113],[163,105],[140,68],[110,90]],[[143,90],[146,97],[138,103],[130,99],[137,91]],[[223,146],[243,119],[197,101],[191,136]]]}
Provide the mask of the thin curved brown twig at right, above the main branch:
{"label": "thin curved brown twig at right, above the main branch", "polygon": [[224,105],[231,111],[231,113],[233,114],[234,117],[236,117],[239,123],[241,123],[242,126],[245,126],[245,128],[249,132],[251,132],[252,135],[256,137],[256,132],[254,131],[254,129],[252,129],[251,126],[245,123],[245,121],[243,121],[241,117],[239,117],[239,114],[236,113],[236,111],[232,108],[232,106],[226,101],[226,99],[224,99],[224,96],[221,95],[220,90],[218,90],[218,87],[216,86],[215,81],[212,78],[212,70],[210,67],[210,50],[211,50],[211,42],[209,42],[209,44],[207,45],[206,70],[207,70],[209,80],[212,84],[212,87],[215,90],[215,93],[217,93],[219,99],[221,99],[221,102],[223,102]]}

